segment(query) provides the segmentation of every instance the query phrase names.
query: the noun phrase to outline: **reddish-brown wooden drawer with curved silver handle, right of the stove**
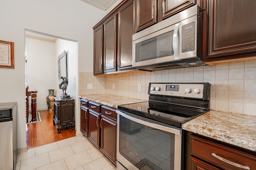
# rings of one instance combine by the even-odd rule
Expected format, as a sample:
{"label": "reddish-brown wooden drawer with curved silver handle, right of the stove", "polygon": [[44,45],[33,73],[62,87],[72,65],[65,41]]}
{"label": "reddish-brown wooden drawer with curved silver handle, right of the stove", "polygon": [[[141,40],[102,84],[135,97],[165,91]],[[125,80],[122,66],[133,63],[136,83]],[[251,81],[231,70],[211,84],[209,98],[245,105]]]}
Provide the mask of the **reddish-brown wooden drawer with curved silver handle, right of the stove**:
{"label": "reddish-brown wooden drawer with curved silver handle, right of the stove", "polygon": [[190,153],[192,155],[220,168],[225,170],[256,169],[256,156],[192,135],[190,135],[190,142]]}

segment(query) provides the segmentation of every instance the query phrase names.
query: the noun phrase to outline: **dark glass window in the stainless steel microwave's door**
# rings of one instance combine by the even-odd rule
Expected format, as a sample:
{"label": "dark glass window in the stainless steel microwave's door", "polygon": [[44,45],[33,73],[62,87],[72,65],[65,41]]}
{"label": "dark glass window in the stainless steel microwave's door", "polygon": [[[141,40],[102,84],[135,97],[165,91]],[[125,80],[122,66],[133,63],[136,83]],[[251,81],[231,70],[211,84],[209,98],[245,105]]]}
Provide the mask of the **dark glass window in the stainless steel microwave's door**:
{"label": "dark glass window in the stainless steel microwave's door", "polygon": [[136,44],[136,62],[174,55],[172,37],[174,31],[158,35]]}

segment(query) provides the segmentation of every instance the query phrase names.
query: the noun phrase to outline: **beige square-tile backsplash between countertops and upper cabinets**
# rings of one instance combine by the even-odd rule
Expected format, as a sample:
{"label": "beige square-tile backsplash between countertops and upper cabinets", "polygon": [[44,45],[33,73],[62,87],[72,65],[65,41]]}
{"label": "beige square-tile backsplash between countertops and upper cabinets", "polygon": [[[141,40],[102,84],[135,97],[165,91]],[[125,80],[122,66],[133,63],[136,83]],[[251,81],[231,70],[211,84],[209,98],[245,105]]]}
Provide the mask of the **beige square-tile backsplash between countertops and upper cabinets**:
{"label": "beige square-tile backsplash between countertops and upper cabinets", "polygon": [[[138,99],[148,99],[150,82],[209,82],[211,109],[256,115],[256,60],[106,76],[80,72],[79,76],[79,95],[112,94]],[[92,89],[87,89],[88,83],[93,84]],[[142,84],[142,91],[138,91],[138,84]]]}

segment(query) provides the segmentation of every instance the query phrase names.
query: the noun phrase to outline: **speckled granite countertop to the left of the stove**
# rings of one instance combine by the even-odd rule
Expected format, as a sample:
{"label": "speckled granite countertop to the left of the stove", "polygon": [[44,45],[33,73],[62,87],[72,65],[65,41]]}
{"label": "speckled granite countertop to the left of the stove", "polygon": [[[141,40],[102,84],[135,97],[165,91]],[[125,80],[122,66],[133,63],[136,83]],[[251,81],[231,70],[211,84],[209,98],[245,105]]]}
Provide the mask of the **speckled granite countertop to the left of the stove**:
{"label": "speckled granite countertop to the left of the stove", "polygon": [[127,98],[127,97],[122,97],[122,96],[114,96],[114,95],[110,95],[110,94],[91,94],[91,95],[82,95],[82,96],[78,96],[78,97],[86,99],[86,100],[90,100],[92,102],[96,102],[99,104],[103,104],[105,106],[113,107],[116,109],[117,109],[118,105],[148,101],[148,100]]}

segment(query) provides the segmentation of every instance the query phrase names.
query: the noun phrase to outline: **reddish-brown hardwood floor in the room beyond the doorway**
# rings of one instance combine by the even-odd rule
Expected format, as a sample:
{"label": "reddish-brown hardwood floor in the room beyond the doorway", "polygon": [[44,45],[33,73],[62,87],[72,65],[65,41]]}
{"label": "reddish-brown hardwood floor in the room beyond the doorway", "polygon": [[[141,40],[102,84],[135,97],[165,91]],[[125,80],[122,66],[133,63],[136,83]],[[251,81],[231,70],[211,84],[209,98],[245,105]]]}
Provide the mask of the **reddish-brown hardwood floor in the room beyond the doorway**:
{"label": "reddish-brown hardwood floor in the room beyond the doorway", "polygon": [[76,130],[72,130],[71,127],[63,128],[61,133],[57,133],[57,127],[52,122],[53,111],[43,110],[39,112],[40,122],[26,124],[26,143],[28,148],[76,136]]}

